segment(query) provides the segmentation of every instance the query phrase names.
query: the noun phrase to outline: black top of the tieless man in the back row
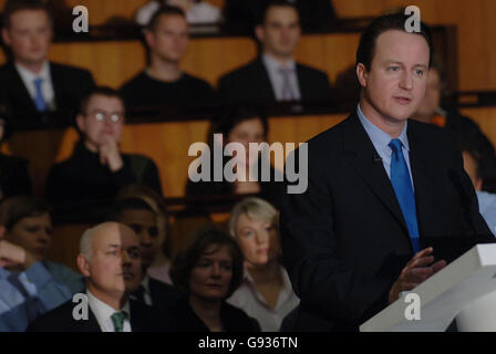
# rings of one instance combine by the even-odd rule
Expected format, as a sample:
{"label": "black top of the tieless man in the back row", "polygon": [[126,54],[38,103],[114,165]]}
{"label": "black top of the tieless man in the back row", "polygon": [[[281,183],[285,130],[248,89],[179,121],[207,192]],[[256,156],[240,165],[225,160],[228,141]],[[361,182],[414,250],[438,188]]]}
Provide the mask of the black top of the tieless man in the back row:
{"label": "black top of the tieless man in the back row", "polygon": [[186,73],[175,82],[165,82],[143,71],[121,91],[130,108],[206,105],[217,100],[215,90],[206,81]]}

